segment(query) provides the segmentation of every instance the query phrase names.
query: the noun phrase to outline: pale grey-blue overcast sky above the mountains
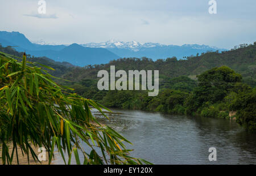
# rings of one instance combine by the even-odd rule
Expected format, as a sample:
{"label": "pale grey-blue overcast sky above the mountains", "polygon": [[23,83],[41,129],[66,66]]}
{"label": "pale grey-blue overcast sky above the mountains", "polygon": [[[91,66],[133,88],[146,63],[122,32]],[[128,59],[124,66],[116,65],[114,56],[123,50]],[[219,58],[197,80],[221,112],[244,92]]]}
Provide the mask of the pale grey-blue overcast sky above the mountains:
{"label": "pale grey-blue overcast sky above the mountains", "polygon": [[0,31],[55,44],[120,41],[205,44],[218,48],[256,41],[256,1],[216,0],[0,0]]}

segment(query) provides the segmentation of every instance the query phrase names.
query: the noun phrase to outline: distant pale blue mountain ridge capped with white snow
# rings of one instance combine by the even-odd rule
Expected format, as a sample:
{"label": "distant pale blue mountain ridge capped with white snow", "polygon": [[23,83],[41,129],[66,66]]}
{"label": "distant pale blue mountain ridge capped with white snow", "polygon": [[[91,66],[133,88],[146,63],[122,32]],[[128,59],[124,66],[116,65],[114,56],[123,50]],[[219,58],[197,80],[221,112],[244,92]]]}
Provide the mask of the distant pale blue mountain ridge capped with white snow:
{"label": "distant pale blue mountain ridge capped with white snow", "polygon": [[216,47],[211,47],[208,45],[162,45],[159,43],[147,42],[142,44],[137,41],[123,42],[109,40],[100,43],[88,43],[81,44],[81,46],[89,48],[105,48],[113,53],[119,55],[120,57],[148,57],[154,60],[156,59],[166,59],[168,57],[177,57],[181,59],[190,55],[197,55],[197,53],[205,53],[207,51],[224,51],[226,49],[219,49]]}

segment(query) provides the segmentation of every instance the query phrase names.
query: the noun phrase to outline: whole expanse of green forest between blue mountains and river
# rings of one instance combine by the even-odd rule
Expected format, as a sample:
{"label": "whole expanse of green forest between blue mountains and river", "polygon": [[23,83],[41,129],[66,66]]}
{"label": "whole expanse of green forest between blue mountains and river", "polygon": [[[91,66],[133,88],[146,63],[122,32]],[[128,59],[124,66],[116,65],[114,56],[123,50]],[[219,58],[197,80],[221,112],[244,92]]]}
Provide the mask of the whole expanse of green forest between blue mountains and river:
{"label": "whole expanse of green forest between blue mountains and river", "polygon": [[[20,56],[13,48],[0,48]],[[171,114],[233,118],[247,130],[256,132],[256,42],[238,49],[207,52],[182,60],[122,58],[105,65],[75,67],[42,57],[28,57],[55,68],[49,72],[65,80],[61,85],[74,88],[72,93],[96,100],[112,108],[161,111]],[[159,95],[147,91],[99,91],[97,72],[110,70],[159,70]],[[69,80],[69,81],[66,81]]]}

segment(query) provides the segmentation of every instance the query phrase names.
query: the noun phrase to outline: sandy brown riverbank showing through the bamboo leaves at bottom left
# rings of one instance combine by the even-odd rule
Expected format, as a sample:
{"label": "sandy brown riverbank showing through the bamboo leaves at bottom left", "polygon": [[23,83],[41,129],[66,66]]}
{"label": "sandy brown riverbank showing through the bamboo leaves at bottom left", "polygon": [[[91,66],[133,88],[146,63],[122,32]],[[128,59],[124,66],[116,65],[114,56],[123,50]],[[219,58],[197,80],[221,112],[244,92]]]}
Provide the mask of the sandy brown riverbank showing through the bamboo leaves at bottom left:
{"label": "sandy brown riverbank showing through the bamboo leaves at bottom left", "polygon": [[[13,151],[13,144],[9,143],[7,144],[9,147],[9,154],[11,155],[11,152]],[[0,145],[2,147],[2,145]],[[38,155],[40,152],[38,152],[39,147],[35,147],[34,145],[31,145],[33,151],[36,153],[36,155]],[[2,148],[0,148],[0,165],[2,165]],[[27,154],[22,153],[20,147],[18,147],[18,159],[19,159],[19,165],[28,165],[28,159],[27,159]],[[48,153],[46,153],[46,161],[35,161],[34,158],[31,155],[31,152],[29,153],[29,164],[30,165],[48,165]],[[13,157],[13,165],[18,165],[17,162],[17,157],[16,157],[16,153],[14,153],[14,157]],[[53,161],[52,163],[53,164]]]}

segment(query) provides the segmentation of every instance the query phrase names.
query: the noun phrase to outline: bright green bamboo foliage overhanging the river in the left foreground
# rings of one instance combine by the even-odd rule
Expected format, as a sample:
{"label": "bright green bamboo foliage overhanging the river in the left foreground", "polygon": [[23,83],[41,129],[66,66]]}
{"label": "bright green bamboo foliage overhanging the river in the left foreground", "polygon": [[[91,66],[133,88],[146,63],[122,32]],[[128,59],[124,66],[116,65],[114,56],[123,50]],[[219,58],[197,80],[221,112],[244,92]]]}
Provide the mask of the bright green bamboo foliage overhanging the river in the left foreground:
{"label": "bright green bamboo foliage overhanging the river in the left foreground", "polygon": [[[14,153],[20,147],[23,153],[31,153],[38,160],[32,145],[45,147],[49,164],[56,148],[65,164],[71,163],[74,153],[80,164],[149,164],[129,156],[123,142],[130,143],[112,128],[101,125],[90,109],[96,108],[106,117],[104,106],[57,85],[46,70],[11,55],[0,52],[0,142],[2,162],[12,164]],[[43,66],[48,69],[51,67]],[[108,117],[106,117],[108,118]],[[12,142],[9,152],[7,143]],[[90,150],[85,151],[81,143]],[[96,148],[101,153],[96,152]],[[64,152],[68,154],[65,161]],[[17,162],[19,164],[18,156]],[[29,162],[29,160],[28,160]]]}

